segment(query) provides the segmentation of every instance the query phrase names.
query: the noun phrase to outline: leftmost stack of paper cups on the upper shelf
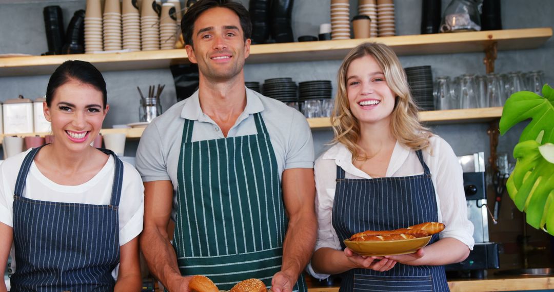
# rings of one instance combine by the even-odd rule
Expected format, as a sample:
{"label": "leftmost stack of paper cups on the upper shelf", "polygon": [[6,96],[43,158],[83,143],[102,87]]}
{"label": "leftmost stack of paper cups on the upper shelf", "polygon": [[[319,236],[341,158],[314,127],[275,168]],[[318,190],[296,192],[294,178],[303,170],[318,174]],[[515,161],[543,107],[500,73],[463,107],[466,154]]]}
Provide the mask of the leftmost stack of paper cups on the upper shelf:
{"label": "leftmost stack of paper cups on the upper shelf", "polygon": [[102,7],[100,0],[86,0],[85,53],[93,53],[103,49]]}

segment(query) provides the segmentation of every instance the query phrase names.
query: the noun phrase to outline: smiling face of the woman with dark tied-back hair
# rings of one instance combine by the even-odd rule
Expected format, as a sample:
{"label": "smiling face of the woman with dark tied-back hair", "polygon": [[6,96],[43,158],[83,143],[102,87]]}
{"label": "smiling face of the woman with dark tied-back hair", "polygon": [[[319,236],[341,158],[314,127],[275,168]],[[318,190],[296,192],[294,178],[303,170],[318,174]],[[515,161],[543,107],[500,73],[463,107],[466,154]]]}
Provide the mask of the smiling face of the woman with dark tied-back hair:
{"label": "smiling face of the woman with dark tied-back hair", "polygon": [[102,92],[94,86],[70,80],[54,92],[44,116],[52,123],[54,143],[71,152],[89,147],[102,128],[109,106],[104,108]]}

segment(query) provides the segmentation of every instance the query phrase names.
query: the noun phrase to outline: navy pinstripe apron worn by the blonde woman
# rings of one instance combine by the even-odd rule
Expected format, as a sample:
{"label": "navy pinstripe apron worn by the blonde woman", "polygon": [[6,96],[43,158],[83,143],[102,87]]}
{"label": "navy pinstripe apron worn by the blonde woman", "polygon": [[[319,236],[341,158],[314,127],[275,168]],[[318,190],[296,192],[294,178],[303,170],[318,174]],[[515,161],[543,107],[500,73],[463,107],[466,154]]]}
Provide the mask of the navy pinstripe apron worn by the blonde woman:
{"label": "navy pinstripe apron worn by the blonde woman", "polygon": [[[393,230],[423,222],[437,222],[437,200],[431,173],[398,178],[346,179],[337,166],[337,184],[332,223],[343,243],[354,233],[366,230]],[[429,244],[438,241],[434,234]],[[344,274],[340,291],[449,291],[444,266],[397,263],[386,272],[352,269]]]}

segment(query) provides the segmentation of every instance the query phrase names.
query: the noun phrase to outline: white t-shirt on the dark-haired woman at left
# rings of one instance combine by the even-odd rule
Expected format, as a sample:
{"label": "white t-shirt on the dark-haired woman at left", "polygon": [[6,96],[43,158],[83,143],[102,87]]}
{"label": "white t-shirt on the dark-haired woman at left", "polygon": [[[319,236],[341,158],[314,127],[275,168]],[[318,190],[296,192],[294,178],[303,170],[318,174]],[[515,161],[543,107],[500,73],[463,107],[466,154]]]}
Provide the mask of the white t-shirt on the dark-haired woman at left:
{"label": "white t-shirt on the dark-haired woman at left", "polygon": [[[13,195],[23,159],[30,151],[10,157],[0,165],[0,222],[13,227]],[[28,199],[91,205],[109,205],[115,162],[110,155],[102,169],[89,181],[77,186],[59,185],[30,166],[23,196]],[[123,185],[119,203],[119,244],[131,241],[142,231],[144,187],[136,169],[123,162]],[[14,247],[12,246],[12,255]],[[15,261],[12,256],[12,263]]]}

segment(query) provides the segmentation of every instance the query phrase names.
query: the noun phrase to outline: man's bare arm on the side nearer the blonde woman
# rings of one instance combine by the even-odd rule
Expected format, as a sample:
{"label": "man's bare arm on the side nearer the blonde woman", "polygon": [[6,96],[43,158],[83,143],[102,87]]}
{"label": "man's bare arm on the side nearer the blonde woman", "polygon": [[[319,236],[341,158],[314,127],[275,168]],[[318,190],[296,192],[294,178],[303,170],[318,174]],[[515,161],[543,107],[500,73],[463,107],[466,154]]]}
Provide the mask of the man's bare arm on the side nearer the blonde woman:
{"label": "man's bare arm on the side nearer the blonde woman", "polygon": [[314,169],[286,169],[282,184],[289,226],[283,243],[283,266],[271,281],[274,292],[292,291],[314,252],[317,232]]}

